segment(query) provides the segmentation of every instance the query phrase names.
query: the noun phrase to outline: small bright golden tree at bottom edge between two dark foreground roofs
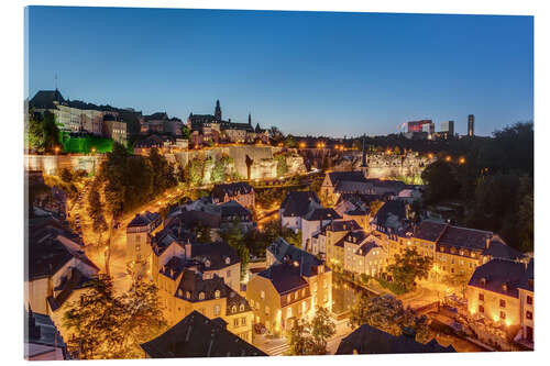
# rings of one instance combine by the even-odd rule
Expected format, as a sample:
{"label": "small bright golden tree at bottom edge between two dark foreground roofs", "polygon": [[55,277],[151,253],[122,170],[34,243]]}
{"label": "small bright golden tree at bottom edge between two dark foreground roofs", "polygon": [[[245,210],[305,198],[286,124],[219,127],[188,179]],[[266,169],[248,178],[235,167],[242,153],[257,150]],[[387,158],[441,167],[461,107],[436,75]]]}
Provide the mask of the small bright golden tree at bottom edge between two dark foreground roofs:
{"label": "small bright golden tree at bottom edge between two dark foreground roofs", "polygon": [[289,354],[326,355],[327,341],[336,334],[336,324],[326,308],[318,307],[311,322],[298,319],[287,334]]}

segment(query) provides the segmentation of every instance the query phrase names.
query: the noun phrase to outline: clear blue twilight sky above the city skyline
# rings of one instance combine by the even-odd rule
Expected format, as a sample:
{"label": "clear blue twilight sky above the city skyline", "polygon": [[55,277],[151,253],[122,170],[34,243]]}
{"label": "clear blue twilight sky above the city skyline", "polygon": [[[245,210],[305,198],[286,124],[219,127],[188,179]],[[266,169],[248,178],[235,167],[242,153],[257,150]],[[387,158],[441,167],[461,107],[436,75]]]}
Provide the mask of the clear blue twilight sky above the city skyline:
{"label": "clear blue twilight sky above the city skyline", "polygon": [[[29,95],[311,135],[532,120],[531,16],[29,8]],[[26,96],[25,96],[26,97]]]}

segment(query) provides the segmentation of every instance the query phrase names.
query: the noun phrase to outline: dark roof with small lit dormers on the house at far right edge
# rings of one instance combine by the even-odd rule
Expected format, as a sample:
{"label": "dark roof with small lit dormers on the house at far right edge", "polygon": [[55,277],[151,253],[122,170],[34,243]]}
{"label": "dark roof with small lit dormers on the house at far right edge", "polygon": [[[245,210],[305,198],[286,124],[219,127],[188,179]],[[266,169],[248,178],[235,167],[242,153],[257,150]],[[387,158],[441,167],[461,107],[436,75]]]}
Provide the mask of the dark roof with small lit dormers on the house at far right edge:
{"label": "dark roof with small lit dormers on the house at far right edge", "polygon": [[492,259],[475,268],[468,286],[518,298],[518,287],[522,284],[526,270],[525,263]]}

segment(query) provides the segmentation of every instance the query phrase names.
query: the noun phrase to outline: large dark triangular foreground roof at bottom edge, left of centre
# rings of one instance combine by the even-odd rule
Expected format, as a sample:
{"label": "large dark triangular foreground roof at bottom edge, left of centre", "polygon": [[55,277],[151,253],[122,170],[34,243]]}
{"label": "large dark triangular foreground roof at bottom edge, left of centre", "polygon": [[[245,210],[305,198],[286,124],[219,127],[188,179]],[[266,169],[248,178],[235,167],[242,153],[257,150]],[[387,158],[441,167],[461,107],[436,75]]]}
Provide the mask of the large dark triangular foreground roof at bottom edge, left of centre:
{"label": "large dark triangular foreground roof at bottom edge, left of centre", "polygon": [[152,358],[267,356],[197,311],[141,347]]}

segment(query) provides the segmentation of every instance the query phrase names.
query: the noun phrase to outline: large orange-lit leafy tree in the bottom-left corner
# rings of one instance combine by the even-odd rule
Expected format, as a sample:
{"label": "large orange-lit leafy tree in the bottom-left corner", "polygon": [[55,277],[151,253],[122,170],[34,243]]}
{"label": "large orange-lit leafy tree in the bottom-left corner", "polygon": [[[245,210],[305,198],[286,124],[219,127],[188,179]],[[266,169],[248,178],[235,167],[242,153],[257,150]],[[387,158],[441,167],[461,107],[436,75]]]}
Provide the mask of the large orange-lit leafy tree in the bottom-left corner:
{"label": "large orange-lit leafy tree in the bottom-left corner", "polygon": [[82,359],[140,357],[140,343],[166,328],[154,285],[134,282],[129,292],[117,296],[105,275],[67,304],[63,323],[73,333],[69,351]]}

